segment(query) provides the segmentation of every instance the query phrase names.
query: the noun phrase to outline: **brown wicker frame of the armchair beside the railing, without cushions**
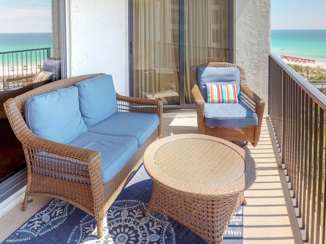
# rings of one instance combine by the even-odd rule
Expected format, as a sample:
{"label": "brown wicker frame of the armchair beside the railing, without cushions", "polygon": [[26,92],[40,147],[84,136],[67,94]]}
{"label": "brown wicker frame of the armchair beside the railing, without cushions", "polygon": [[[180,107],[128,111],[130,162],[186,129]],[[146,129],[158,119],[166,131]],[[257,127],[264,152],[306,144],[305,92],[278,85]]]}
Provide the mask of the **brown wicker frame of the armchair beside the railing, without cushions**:
{"label": "brown wicker frame of the armchair beside the railing, without cushions", "polygon": [[[241,101],[257,114],[258,123],[256,125],[245,127],[211,127],[206,125],[205,100],[198,86],[198,70],[201,67],[236,67],[239,69]],[[199,133],[220,137],[228,141],[251,142],[253,146],[256,146],[260,137],[265,101],[255,94],[249,87],[244,69],[235,64],[222,62],[201,64],[191,67],[190,79],[192,94],[196,103]]]}

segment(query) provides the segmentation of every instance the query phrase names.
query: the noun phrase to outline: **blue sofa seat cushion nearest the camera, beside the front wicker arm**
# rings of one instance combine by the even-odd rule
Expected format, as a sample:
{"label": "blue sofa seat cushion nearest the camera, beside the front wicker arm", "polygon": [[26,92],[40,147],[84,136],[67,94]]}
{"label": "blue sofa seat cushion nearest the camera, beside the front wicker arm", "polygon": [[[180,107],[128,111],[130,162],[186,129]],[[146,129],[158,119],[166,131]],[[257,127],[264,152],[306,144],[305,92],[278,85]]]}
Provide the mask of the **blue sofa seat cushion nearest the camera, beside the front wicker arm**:
{"label": "blue sofa seat cushion nearest the camera, beside the front wicker arm", "polygon": [[127,136],[107,136],[85,132],[68,143],[72,146],[99,151],[103,184],[110,181],[138,149],[137,140]]}

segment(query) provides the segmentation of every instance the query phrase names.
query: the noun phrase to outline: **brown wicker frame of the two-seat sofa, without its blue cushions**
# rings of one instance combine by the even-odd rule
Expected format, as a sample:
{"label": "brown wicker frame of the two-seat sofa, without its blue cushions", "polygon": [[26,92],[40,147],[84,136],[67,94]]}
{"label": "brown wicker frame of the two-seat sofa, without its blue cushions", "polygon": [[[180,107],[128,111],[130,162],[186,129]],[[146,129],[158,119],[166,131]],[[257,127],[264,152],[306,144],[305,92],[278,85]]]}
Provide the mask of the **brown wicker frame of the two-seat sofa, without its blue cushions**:
{"label": "brown wicker frame of the two-seat sofa, without its blue cushions", "polygon": [[[123,189],[127,179],[143,162],[147,146],[161,137],[162,102],[116,94],[118,111],[158,114],[159,127],[138,148],[124,168],[105,185],[102,184],[101,155],[98,151],[39,138],[30,131],[24,120],[26,99],[69,87],[98,75],[101,74],[77,76],[42,85],[10,98],[4,103],[4,108],[10,125],[22,144],[27,164],[28,182],[22,210],[26,209],[29,196],[49,196],[64,200],[94,216],[97,221],[97,236],[101,237],[105,212]],[[46,156],[39,157],[40,155]]]}

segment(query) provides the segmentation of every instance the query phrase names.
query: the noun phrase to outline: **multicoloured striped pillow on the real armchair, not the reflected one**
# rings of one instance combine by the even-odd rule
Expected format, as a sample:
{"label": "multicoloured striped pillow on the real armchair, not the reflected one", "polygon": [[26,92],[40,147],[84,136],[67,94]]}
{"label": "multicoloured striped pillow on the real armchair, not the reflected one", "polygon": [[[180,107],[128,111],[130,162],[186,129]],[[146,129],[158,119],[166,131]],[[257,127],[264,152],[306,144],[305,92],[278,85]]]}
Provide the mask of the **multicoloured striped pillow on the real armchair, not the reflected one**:
{"label": "multicoloured striped pillow on the real armchair, not the reflected one", "polygon": [[207,103],[238,103],[236,84],[206,83]]}

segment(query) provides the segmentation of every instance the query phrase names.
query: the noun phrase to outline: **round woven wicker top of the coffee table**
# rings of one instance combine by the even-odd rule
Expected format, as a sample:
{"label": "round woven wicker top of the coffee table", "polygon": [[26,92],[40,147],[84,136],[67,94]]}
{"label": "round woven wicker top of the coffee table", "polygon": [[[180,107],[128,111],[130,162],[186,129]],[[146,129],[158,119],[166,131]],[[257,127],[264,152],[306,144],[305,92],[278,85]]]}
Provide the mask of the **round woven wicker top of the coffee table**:
{"label": "round woven wicker top of the coffee table", "polygon": [[221,138],[180,134],[153,142],[144,166],[153,180],[176,191],[226,195],[249,188],[257,169],[252,157]]}

